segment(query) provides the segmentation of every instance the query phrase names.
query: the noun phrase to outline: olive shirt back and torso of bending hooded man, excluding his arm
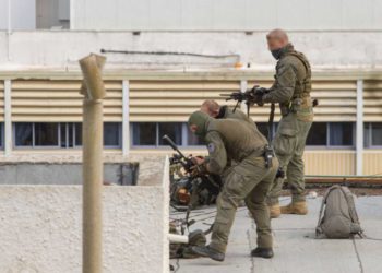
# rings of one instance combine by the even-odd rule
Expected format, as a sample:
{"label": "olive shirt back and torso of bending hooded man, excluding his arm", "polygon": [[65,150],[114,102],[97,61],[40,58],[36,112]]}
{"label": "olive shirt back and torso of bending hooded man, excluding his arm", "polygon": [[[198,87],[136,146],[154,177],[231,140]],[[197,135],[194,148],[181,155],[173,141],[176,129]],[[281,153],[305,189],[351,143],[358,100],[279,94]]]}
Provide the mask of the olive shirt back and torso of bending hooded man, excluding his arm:
{"label": "olive shirt back and torso of bending hooded man, excluding his arm", "polygon": [[218,132],[227,157],[240,162],[250,155],[260,156],[267,144],[265,138],[249,122],[237,119],[215,119],[207,127],[207,133]]}

